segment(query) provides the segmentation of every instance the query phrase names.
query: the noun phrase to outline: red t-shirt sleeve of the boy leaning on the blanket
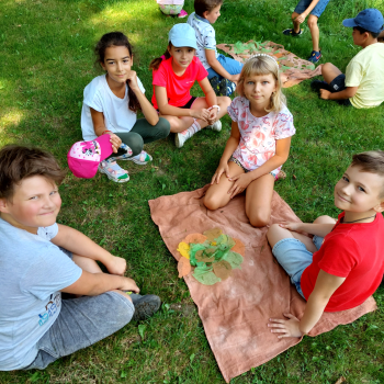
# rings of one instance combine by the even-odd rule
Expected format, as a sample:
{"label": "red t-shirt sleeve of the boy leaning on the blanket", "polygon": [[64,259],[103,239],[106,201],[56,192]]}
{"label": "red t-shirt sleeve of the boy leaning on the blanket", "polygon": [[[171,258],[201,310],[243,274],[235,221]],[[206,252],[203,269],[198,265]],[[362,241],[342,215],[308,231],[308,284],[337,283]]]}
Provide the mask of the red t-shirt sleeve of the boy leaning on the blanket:
{"label": "red t-shirt sleeve of the boy leaning on the blanket", "polygon": [[359,262],[359,246],[349,236],[332,236],[323,247],[324,256],[318,267],[329,274],[347,278]]}

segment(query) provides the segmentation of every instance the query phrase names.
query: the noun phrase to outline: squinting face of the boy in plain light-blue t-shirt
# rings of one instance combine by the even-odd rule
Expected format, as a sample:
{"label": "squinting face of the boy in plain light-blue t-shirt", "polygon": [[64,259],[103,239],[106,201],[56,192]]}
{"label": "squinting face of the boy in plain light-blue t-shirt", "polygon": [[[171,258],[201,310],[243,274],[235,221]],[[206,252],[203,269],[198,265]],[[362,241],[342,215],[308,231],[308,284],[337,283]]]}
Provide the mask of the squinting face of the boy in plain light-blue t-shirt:
{"label": "squinting face of the boy in plain light-blue t-shirt", "polygon": [[32,234],[36,234],[38,227],[55,224],[60,206],[57,185],[43,176],[22,180],[15,185],[11,201],[0,199],[1,217]]}

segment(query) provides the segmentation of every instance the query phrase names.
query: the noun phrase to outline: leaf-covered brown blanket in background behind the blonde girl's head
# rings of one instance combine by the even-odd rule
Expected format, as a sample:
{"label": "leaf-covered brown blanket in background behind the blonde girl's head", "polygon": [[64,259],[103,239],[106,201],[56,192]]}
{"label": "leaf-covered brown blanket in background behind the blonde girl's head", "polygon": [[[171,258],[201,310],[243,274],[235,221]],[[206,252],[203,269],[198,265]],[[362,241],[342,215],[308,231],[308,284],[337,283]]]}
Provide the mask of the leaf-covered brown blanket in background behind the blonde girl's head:
{"label": "leaf-covered brown blanket in background behind the blonde girl's head", "polygon": [[273,42],[237,42],[236,44],[218,44],[218,49],[226,52],[235,60],[245,63],[255,54],[273,56],[280,67],[283,88],[293,87],[301,81],[321,75],[321,65],[315,65],[308,60],[297,57],[292,52],[285,50],[284,46]]}

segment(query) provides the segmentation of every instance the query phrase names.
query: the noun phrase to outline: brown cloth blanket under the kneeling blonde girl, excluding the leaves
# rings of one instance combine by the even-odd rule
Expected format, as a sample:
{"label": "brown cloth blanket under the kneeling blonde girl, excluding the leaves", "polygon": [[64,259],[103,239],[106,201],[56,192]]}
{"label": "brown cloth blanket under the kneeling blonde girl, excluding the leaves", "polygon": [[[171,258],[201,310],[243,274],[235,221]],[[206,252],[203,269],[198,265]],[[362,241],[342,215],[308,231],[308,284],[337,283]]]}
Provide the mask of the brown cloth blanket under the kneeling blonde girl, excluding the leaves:
{"label": "brown cloth blanket under the kneeling blonde girl, excluding the leaves", "polygon": [[[197,305],[206,337],[227,383],[230,379],[273,359],[298,343],[301,339],[278,339],[267,327],[270,317],[292,313],[301,318],[305,301],[290,283],[267,242],[264,228],[255,228],[245,214],[244,194],[217,211],[208,211],[202,203],[208,185],[193,192],[161,196],[149,201],[151,218],[172,256],[179,260],[179,242],[189,234],[219,227],[225,234],[240,239],[245,246],[241,269],[215,285],[199,283],[191,273],[184,278],[192,300]],[[273,192],[271,223],[298,222],[291,207]],[[174,264],[177,274],[177,266]],[[376,309],[371,296],[354,309],[325,313],[309,336],[352,323]]]}

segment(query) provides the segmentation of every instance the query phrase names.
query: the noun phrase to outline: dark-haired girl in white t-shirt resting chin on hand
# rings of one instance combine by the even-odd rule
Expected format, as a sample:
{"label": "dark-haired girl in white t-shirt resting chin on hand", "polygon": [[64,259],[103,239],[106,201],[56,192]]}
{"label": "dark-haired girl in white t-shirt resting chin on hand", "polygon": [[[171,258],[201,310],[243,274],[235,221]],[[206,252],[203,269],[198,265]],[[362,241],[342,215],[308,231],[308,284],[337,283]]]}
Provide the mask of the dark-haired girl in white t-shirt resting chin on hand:
{"label": "dark-haired girl in white t-shirt resting chin on hand", "polygon": [[[159,118],[144,95],[143,83],[132,70],[132,46],[123,33],[103,35],[94,50],[97,63],[106,74],[94,78],[84,89],[82,136],[84,140],[103,134],[111,136],[114,154],[100,163],[99,170],[115,182],[126,182],[129,180],[128,172],[116,160],[132,160],[143,166],[151,161],[151,156],[143,150],[143,146],[167,137],[170,124]],[[138,110],[145,118],[137,120]]]}

